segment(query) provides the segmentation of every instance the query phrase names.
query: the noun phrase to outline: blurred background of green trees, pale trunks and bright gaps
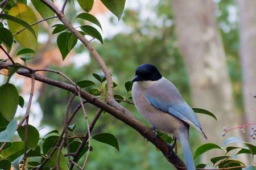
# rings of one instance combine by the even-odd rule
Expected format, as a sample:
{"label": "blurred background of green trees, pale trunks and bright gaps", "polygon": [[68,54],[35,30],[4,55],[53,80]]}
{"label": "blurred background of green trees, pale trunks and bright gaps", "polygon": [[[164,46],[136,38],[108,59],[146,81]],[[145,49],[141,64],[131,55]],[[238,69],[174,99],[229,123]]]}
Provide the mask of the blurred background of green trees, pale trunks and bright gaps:
{"label": "blurred background of green trees, pale trunks and bright gaps", "polygon": [[[55,3],[61,7],[63,2]],[[74,5],[67,6],[66,12],[72,21],[82,10],[75,1]],[[242,134],[239,129],[230,131],[225,137],[221,137],[221,134],[223,127],[230,129],[255,121],[256,1],[126,1],[122,18],[118,22],[100,0],[95,0],[90,13],[102,25],[104,45],[97,40],[93,40],[92,44],[118,84],[115,94],[125,96],[124,84],[133,78],[137,66],[152,63],[176,85],[192,107],[207,109],[218,118],[215,121],[203,114],[197,115],[208,135],[208,141],[191,128],[192,151],[200,143],[221,145],[230,136],[243,138],[255,145],[249,134]],[[80,20],[73,24],[80,25],[82,22]],[[49,28],[46,23],[41,23],[39,28],[37,53],[27,63],[28,66],[60,70],[74,82],[83,79],[97,81],[92,73],[101,73],[101,69],[84,45],[78,42],[63,62],[56,46],[57,36],[51,35],[53,28]],[[19,46],[15,48],[13,53]],[[5,58],[1,54],[2,57]],[[46,76],[64,80],[52,73]],[[3,82],[3,76],[0,76],[0,83]],[[10,82],[19,85],[21,95],[28,101],[30,79],[18,76]],[[36,82],[35,96],[30,124],[41,129],[42,135],[53,128],[61,130],[69,97],[67,92]],[[72,108],[77,104],[79,101],[75,100]],[[143,124],[150,126],[134,105],[121,104]],[[86,109],[92,120],[97,108],[88,104]],[[19,108],[16,116],[22,116],[25,111],[26,107]],[[82,112],[77,114],[72,124],[77,124],[76,134],[85,133]],[[92,141],[93,151],[89,156],[88,169],[170,169],[170,164],[161,152],[137,131],[108,113],[102,114],[92,133],[99,132],[114,134],[118,138],[120,151]],[[178,152],[181,153],[181,150]],[[196,163],[209,163],[213,154],[218,155],[217,151],[211,153],[197,158]]]}

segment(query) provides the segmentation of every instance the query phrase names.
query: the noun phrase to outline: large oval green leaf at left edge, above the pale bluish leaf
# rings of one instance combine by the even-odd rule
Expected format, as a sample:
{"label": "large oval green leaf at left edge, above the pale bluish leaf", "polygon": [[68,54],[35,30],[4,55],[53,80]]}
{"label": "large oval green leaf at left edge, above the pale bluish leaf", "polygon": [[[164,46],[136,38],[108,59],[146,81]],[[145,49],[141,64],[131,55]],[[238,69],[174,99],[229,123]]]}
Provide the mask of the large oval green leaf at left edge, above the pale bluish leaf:
{"label": "large oval green leaf at left edge, above the pale bluish leaf", "polygon": [[13,84],[6,83],[0,87],[0,112],[11,121],[19,104],[19,94]]}

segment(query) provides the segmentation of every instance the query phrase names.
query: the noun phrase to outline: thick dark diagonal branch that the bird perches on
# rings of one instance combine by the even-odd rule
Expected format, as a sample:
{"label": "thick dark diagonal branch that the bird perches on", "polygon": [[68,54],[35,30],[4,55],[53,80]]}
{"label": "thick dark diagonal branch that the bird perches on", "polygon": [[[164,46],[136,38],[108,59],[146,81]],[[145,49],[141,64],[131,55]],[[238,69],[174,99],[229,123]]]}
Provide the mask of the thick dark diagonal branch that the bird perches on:
{"label": "thick dark diagonal branch that the bird perches on", "polygon": [[[10,66],[12,66],[12,65],[10,65],[8,63],[0,62],[0,70],[8,69],[8,67],[10,67]],[[18,73],[19,75],[23,75],[23,76],[27,76],[28,78],[31,78],[30,71],[28,71],[26,69],[19,69],[16,73]],[[52,80],[52,79],[49,79],[40,74],[34,74],[34,76],[35,76],[35,80],[50,84],[55,87],[62,88],[64,90],[68,90],[68,91],[72,92],[73,94],[77,95],[77,92],[78,92],[77,88],[75,86],[72,86],[71,84]],[[167,160],[170,163],[174,164],[177,169],[184,169],[184,168],[180,168],[180,167],[185,167],[185,164],[175,153],[169,155],[169,153],[168,153],[169,146],[167,145],[167,143],[164,142],[159,137],[152,138],[155,135],[154,132],[152,130],[150,130],[149,128],[147,128],[146,126],[144,126],[143,124],[141,124],[141,122],[139,122],[133,116],[123,114],[121,111],[118,111],[117,109],[111,107],[110,105],[104,103],[103,101],[97,99],[95,96],[92,96],[85,91],[81,90],[80,93],[81,93],[81,97],[83,99],[85,99],[88,103],[93,104],[96,107],[108,112],[115,118],[117,118],[117,119],[121,120],[122,122],[124,122],[125,124],[131,126],[131,128],[137,130],[144,138],[146,138],[153,145],[155,145],[160,151],[162,151],[164,156],[166,156]]]}

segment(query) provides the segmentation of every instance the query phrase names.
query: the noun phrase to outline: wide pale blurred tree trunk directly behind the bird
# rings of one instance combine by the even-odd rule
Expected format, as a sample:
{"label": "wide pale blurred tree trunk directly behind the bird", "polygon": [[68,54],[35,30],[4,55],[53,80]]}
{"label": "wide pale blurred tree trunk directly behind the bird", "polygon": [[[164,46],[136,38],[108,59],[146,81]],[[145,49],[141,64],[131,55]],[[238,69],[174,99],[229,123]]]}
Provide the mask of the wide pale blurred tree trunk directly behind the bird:
{"label": "wide pale blurred tree trunk directly behind the bird", "polygon": [[[215,6],[210,0],[174,0],[174,19],[177,37],[185,65],[187,66],[193,106],[204,108],[217,116],[214,121],[199,115],[208,141],[221,145],[222,128],[240,124],[234,109],[232,84],[228,75],[224,48],[214,16]],[[226,136],[240,137],[240,131],[230,131]],[[204,163],[223,154],[213,150],[204,154]]]}

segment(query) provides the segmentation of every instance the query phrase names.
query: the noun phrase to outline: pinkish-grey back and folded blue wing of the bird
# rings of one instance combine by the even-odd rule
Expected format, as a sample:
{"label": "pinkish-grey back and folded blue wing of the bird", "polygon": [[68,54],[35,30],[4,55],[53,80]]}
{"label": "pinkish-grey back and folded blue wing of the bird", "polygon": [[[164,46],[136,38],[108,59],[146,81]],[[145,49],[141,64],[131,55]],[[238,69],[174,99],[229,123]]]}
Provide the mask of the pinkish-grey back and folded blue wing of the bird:
{"label": "pinkish-grey back and folded blue wing of the bird", "polygon": [[167,79],[160,79],[159,82],[148,88],[146,90],[146,99],[154,107],[183,120],[204,135],[196,114],[183,100],[174,84]]}

